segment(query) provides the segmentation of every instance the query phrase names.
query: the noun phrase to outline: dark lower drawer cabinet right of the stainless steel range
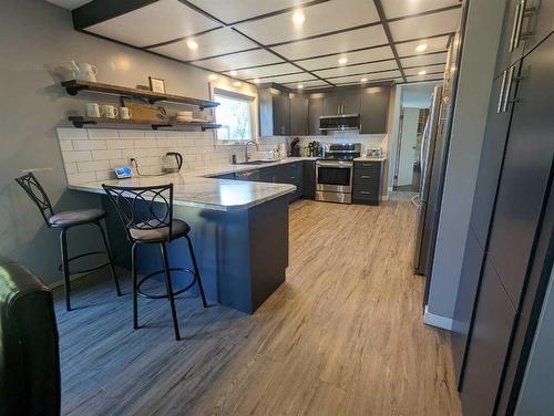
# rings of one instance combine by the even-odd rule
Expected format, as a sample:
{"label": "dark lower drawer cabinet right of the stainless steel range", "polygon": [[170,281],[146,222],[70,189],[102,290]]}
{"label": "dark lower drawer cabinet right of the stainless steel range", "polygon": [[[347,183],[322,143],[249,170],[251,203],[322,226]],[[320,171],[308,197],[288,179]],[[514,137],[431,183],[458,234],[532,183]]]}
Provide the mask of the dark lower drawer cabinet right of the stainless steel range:
{"label": "dark lower drawer cabinet right of the stainless steel range", "polygon": [[380,204],[382,169],[382,162],[371,160],[353,163],[353,204]]}

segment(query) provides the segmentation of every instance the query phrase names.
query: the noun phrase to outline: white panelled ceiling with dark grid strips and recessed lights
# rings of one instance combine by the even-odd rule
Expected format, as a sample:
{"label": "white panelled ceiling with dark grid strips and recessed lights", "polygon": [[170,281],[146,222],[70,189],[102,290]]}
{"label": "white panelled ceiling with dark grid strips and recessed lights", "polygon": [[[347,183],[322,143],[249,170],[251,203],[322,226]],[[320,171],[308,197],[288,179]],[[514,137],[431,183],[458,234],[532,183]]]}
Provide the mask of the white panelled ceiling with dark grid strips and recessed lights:
{"label": "white panelled ceiling with dark grid strips and recessed lights", "polygon": [[290,89],[440,80],[462,10],[460,0],[49,1],[73,9],[83,32]]}

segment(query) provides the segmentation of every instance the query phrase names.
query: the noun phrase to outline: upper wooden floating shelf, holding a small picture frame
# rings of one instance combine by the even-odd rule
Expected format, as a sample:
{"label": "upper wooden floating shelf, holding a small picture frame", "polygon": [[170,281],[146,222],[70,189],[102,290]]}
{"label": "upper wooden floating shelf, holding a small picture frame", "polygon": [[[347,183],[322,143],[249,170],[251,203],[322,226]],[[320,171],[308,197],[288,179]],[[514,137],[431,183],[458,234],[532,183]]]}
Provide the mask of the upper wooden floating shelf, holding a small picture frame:
{"label": "upper wooden floating shelf, holding a small picture frame", "polygon": [[93,91],[98,93],[116,94],[133,96],[138,98],[146,98],[151,104],[158,101],[166,101],[170,103],[188,104],[198,106],[201,110],[217,107],[219,103],[207,100],[191,98],[182,95],[156,93],[150,90],[130,89],[126,86],[102,84],[100,82],[71,80],[62,82],[62,86],[70,95],[76,95],[80,91]]}

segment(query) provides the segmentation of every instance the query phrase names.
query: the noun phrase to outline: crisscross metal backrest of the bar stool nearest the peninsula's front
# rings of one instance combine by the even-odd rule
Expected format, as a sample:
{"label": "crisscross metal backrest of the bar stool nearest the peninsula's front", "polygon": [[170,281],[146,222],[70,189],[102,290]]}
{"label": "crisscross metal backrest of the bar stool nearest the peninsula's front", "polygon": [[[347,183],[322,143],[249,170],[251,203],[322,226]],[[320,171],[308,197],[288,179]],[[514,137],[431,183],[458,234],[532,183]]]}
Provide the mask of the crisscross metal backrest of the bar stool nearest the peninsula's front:
{"label": "crisscross metal backrest of the bar stool nearest the peninsula's front", "polygon": [[[131,230],[154,230],[168,227],[172,236],[173,184],[160,186],[125,187],[102,184],[125,227],[129,241]],[[168,237],[171,239],[171,237]]]}

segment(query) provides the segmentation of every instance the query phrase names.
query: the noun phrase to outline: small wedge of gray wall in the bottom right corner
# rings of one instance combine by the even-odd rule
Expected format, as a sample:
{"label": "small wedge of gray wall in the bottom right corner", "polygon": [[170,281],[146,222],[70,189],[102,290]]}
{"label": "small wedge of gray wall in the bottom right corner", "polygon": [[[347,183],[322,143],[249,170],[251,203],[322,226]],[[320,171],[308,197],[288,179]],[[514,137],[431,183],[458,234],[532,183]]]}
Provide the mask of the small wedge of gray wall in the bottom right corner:
{"label": "small wedge of gray wall in the bottom right corner", "polygon": [[554,272],[543,303],[533,349],[525,370],[516,415],[554,415]]}

